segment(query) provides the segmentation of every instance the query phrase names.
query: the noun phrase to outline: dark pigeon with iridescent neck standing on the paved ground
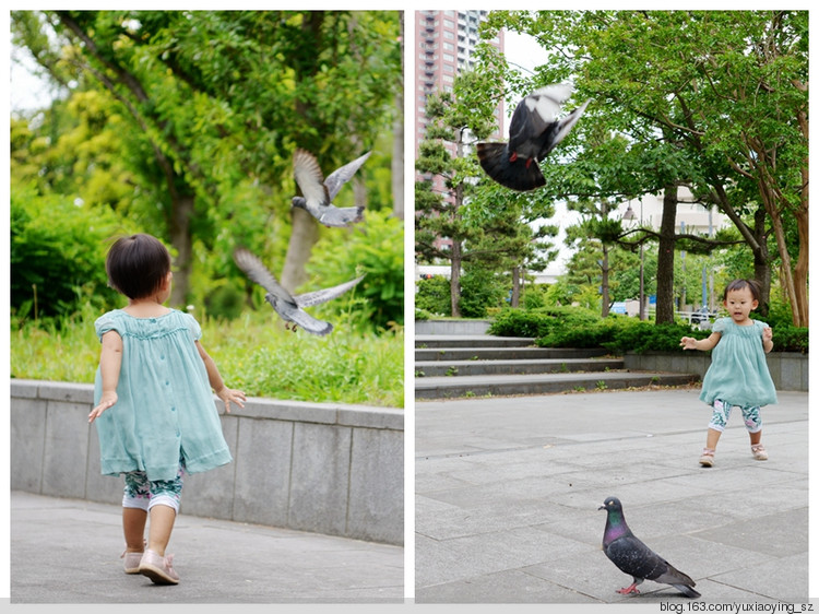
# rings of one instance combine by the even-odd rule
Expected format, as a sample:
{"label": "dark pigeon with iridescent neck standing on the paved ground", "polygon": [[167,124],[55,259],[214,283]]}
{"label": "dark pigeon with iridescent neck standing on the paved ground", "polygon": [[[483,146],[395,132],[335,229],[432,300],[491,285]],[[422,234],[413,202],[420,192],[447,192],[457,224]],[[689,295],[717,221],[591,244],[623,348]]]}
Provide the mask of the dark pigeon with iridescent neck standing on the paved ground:
{"label": "dark pigeon with iridescent neck standing on the paved ground", "polygon": [[686,597],[700,597],[700,593],[693,590],[696,582],[691,578],[672,567],[667,560],[634,536],[626,524],[620,499],[608,497],[597,509],[605,509],[608,515],[606,530],[603,533],[603,552],[620,571],[630,575],[634,580],[630,587],[618,590],[618,593],[639,593],[638,585],[649,579],[670,585]]}

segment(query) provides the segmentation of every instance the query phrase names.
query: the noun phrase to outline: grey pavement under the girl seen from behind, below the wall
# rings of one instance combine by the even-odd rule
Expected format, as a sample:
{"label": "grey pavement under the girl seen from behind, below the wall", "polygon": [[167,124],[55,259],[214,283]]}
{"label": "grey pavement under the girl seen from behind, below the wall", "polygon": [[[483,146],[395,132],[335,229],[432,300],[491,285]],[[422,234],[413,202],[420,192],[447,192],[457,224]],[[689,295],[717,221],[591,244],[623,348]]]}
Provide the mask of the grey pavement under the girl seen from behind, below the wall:
{"label": "grey pavement under the girl seen from behind, below the wall", "polygon": [[12,492],[11,603],[395,603],[404,548],[180,515],[155,586],[119,558],[121,507]]}

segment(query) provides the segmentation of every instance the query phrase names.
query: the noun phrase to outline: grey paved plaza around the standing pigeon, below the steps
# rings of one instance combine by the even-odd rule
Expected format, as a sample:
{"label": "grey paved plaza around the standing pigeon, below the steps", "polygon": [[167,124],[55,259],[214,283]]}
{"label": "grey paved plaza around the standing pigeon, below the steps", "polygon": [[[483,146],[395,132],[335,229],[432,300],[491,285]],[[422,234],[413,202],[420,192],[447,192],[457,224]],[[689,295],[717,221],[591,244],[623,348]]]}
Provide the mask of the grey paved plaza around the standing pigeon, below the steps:
{"label": "grey paved plaza around the standing pigeon, below the steps", "polygon": [[[699,389],[416,403],[416,603],[685,602],[601,551],[614,495],[632,531],[708,602],[808,598],[808,395],[763,408],[770,460],[738,415],[697,462]],[[682,603],[679,604],[682,606]]]}

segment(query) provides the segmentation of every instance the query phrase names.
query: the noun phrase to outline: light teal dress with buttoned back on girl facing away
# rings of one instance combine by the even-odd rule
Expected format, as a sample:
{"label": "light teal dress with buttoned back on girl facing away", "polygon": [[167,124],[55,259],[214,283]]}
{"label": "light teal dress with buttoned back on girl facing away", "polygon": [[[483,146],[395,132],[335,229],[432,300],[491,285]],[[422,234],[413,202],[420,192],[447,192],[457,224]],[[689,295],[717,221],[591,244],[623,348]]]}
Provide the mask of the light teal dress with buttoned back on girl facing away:
{"label": "light teal dress with buttoned back on girl facing away", "polygon": [[[189,473],[233,460],[195,341],[202,329],[178,310],[135,318],[115,309],[94,323],[97,336],[122,338],[117,403],[96,418],[104,475],[145,471],[147,479],[174,480],[179,459]],[[97,368],[94,404],[103,381]]]}

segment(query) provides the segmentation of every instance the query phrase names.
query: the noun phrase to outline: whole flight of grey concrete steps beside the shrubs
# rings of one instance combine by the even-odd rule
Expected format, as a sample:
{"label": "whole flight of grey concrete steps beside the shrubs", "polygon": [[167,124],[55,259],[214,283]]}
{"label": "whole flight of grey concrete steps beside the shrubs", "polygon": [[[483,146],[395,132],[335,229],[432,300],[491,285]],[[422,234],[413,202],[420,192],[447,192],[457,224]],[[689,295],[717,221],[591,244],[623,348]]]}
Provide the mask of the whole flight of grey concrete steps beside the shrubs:
{"label": "whole flight of grey concrete steps beside the shrubs", "polygon": [[537,347],[485,334],[416,334],[415,398],[449,399],[680,386],[698,376],[629,371],[606,350]]}

